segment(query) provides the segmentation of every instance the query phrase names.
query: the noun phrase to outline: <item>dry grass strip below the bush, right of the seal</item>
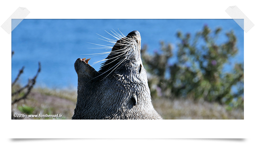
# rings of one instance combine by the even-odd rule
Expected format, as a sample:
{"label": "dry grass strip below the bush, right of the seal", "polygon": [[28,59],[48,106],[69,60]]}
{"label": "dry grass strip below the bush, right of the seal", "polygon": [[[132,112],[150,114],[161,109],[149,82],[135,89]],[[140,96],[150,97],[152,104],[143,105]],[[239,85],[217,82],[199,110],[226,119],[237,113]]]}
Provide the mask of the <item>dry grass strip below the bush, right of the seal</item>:
{"label": "dry grass strip below the bush, right of the seal", "polygon": [[194,103],[190,100],[153,100],[153,105],[158,113],[168,120],[187,119],[244,119],[242,109],[230,109],[227,105],[218,103]]}

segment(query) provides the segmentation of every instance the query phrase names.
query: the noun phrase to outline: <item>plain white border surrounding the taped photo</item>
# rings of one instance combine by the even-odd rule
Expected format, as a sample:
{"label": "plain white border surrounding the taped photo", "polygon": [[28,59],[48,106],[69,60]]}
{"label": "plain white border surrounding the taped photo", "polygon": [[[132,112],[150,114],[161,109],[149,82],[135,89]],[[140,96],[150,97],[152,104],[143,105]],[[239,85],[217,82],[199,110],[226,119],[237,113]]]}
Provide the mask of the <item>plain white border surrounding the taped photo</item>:
{"label": "plain white border surrounding the taped photo", "polygon": [[[226,19],[229,6],[255,24],[251,1],[4,1],[0,25],[18,7],[26,19]],[[246,25],[246,24],[245,24]],[[244,120],[11,120],[11,34],[0,28],[1,146],[5,148],[253,148],[255,147],[255,29],[244,33]],[[10,138],[246,138],[246,139],[10,139]],[[47,141],[47,142],[45,142]]]}

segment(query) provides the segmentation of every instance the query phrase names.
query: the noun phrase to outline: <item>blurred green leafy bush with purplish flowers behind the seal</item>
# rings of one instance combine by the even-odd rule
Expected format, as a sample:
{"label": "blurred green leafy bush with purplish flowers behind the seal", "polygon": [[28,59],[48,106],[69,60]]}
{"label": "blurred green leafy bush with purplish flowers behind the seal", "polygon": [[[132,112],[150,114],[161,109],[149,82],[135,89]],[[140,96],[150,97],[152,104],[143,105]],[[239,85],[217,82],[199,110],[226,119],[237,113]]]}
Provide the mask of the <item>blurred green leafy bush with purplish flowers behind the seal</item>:
{"label": "blurred green leafy bush with purplish flowers behind the seal", "polygon": [[217,28],[212,32],[204,26],[194,38],[190,33],[177,32],[180,43],[174,64],[169,63],[174,55],[170,43],[161,42],[161,49],[153,55],[143,46],[142,59],[153,98],[186,98],[243,109],[244,64],[236,63],[232,71],[223,72],[238,49],[233,31],[226,33],[226,42],[216,42],[221,31]]}

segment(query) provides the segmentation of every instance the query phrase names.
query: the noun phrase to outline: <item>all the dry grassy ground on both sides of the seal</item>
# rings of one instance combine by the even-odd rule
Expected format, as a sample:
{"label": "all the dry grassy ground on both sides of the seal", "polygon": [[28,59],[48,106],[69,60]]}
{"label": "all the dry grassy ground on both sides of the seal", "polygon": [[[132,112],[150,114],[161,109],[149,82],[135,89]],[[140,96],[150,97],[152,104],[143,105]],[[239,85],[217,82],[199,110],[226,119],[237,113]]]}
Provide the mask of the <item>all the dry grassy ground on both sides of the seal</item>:
{"label": "all the dry grassy ground on both sides of the seal", "polygon": [[[28,99],[12,105],[12,111],[13,114],[21,114],[18,107],[28,106],[31,107],[33,115],[63,115],[62,118],[40,119],[71,119],[74,114],[76,97],[76,90],[36,88],[28,95]],[[230,109],[228,106],[218,103],[206,101],[194,103],[190,100],[168,99],[153,99],[152,102],[156,111],[164,119],[244,119],[242,109]],[[25,117],[25,119],[30,118]]]}

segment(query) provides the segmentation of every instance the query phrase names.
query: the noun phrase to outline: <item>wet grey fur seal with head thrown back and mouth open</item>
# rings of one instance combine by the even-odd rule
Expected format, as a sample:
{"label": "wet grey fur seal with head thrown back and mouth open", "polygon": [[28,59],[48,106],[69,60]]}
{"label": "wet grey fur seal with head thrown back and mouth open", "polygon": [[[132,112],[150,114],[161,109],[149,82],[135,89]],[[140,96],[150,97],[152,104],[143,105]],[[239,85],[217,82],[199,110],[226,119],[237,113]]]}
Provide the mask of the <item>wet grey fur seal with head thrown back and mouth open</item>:
{"label": "wet grey fur seal with head thrown back and mouth open", "polygon": [[138,31],[124,35],[96,71],[89,59],[77,59],[78,96],[72,119],[162,119],[150,96],[140,58]]}

